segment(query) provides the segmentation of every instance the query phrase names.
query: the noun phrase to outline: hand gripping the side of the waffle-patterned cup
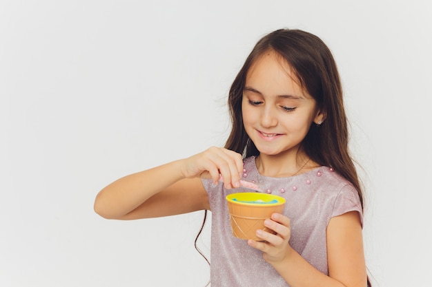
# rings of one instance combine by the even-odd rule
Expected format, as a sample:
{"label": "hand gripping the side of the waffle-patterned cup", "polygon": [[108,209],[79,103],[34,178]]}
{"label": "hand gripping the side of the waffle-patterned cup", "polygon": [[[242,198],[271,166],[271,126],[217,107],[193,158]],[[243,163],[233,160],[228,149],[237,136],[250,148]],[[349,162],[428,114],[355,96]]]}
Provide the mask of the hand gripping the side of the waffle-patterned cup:
{"label": "hand gripping the side of the waffle-patterned cup", "polygon": [[258,229],[256,235],[264,242],[248,240],[248,244],[262,251],[266,262],[270,264],[282,262],[291,251],[291,246],[288,244],[291,237],[290,220],[285,215],[273,213],[271,219],[264,221],[264,226],[275,231],[276,234]]}

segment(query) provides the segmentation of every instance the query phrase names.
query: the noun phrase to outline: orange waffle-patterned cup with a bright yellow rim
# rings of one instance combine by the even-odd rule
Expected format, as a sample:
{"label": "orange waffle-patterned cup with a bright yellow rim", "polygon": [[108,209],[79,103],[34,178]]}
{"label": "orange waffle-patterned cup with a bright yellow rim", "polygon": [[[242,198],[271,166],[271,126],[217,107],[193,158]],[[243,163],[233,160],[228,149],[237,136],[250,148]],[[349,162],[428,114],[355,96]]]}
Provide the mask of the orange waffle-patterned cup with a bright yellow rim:
{"label": "orange waffle-patterned cup with a bright yellow rim", "polygon": [[262,240],[255,235],[257,229],[273,233],[264,226],[264,220],[273,213],[284,211],[285,199],[268,193],[232,193],[226,195],[233,235],[248,240]]}

